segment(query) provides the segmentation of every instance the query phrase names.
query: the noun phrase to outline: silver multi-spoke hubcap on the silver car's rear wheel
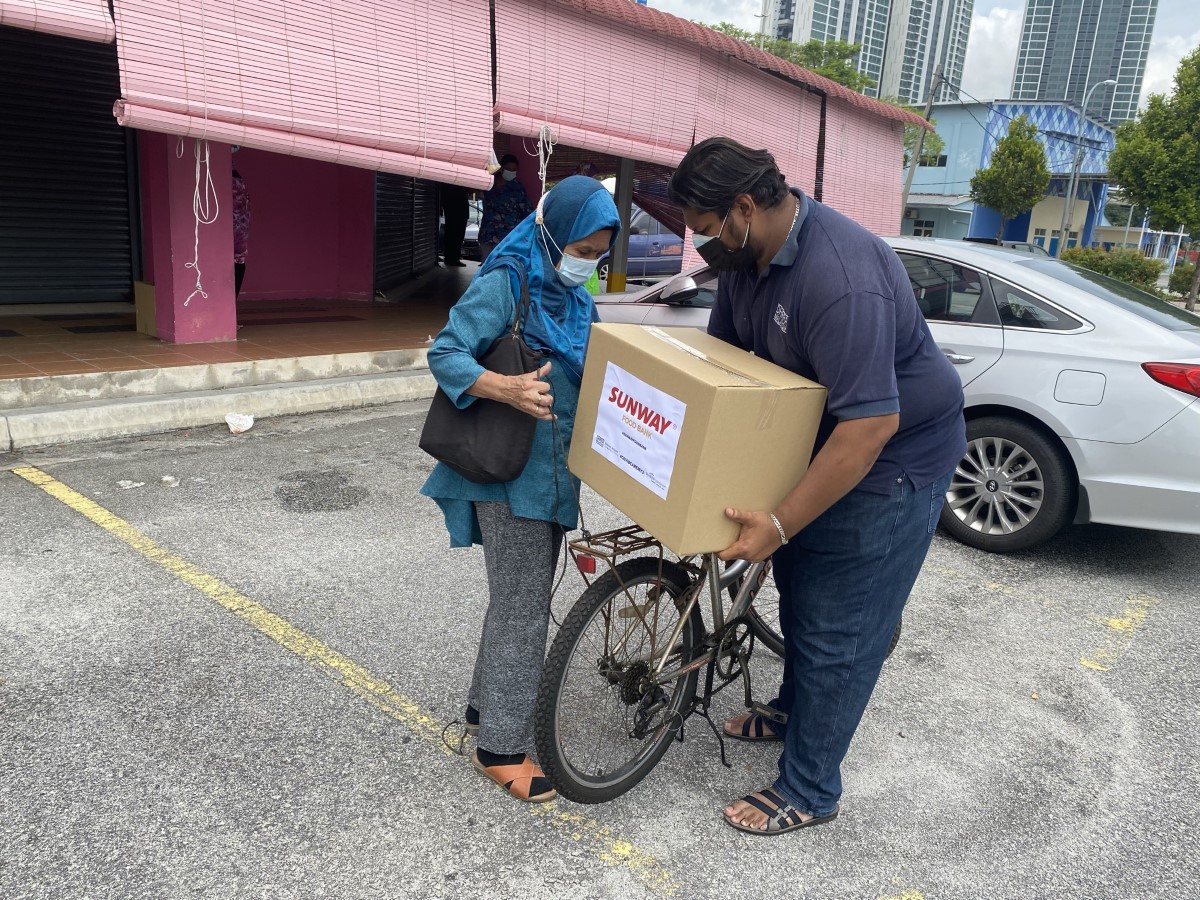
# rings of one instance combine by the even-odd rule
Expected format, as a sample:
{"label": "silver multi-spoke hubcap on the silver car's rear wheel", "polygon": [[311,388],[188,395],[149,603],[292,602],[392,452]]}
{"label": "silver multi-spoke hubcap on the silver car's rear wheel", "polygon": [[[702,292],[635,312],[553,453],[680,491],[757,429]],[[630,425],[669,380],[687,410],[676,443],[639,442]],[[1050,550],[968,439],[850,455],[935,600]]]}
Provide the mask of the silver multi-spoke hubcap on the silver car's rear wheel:
{"label": "silver multi-spoke hubcap on the silver car's rear wheel", "polygon": [[1037,461],[1020,444],[1003,438],[972,440],[946,492],[950,511],[982,534],[1021,530],[1038,515],[1044,499]]}

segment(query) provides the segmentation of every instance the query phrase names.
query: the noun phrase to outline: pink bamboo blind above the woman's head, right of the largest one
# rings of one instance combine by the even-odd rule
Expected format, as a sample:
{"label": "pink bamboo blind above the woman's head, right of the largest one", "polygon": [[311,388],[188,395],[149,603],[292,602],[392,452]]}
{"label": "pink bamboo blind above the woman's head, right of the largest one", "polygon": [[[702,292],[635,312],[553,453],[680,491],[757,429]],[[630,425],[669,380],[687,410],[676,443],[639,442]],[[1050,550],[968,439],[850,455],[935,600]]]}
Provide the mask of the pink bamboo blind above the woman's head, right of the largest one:
{"label": "pink bamboo blind above the woman's head, right of the largest one", "polygon": [[692,143],[700,54],[557,0],[496,0],[496,130],[674,166]]}

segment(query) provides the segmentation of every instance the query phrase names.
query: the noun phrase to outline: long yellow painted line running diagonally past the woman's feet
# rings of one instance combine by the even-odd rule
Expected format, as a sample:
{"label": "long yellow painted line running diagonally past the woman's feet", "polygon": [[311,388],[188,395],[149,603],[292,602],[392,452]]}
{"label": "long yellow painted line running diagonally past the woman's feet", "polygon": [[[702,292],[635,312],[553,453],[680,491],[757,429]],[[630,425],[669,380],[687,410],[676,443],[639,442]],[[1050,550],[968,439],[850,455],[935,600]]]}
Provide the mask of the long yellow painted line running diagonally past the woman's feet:
{"label": "long yellow painted line running diagonally past the woman's feet", "polygon": [[[109,512],[95,500],[73,491],[52,475],[32,466],[12,469],[31,485],[64,503],[100,526],[118,540],[127,544],[146,559],[157,563],[180,581],[199,590],[210,600],[252,625],[278,646],[300,656],[334,680],[349,688],[380,712],[390,715],[413,733],[446,755],[454,754],[442,742],[443,725],[420,706],[396,691],[382,678],[358,665],[312,635],[301,631],[287,619],[276,616],[256,600],[251,600],[220,578],[175,556],[170,550],[148,538],[120,516]],[[612,829],[587,816],[563,809],[558,802],[521,804],[541,822],[568,834],[571,840],[590,845],[596,858],[612,866],[624,866],[654,893],[676,896],[680,884],[653,856],[644,853]]]}

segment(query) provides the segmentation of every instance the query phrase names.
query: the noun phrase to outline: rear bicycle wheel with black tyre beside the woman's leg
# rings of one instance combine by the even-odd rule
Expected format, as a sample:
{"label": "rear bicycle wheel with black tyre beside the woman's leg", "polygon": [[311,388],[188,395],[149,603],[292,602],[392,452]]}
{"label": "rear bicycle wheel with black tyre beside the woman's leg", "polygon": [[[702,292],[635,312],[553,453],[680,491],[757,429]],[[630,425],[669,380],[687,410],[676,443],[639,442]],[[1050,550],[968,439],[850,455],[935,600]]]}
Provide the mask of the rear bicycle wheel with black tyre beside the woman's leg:
{"label": "rear bicycle wheel with black tyre beside the woman's leg", "polygon": [[[666,641],[679,617],[672,601],[690,583],[688,570],[674,563],[660,563],[654,557],[625,560],[596,578],[554,635],[538,685],[534,722],[538,760],[546,778],[566,799],[605,803],[619,797],[646,778],[667,751],[695,698],[700,671],[683,673],[668,685],[654,689],[644,680],[648,664],[637,659],[636,652],[644,648],[637,640],[649,636],[647,619],[652,618],[649,607],[654,606],[658,607],[654,624],[664,625],[661,634],[655,629],[655,635]],[[635,605],[641,610],[640,617],[622,617],[623,610]],[[662,616],[664,612],[667,614]],[[608,628],[613,622],[624,623],[631,635],[625,643],[634,653],[628,659],[617,658],[625,648],[610,646],[606,620]],[[592,634],[598,623],[605,630],[602,635]],[[684,622],[679,649],[673,654],[676,660],[667,665],[690,660],[703,634],[697,604]],[[646,672],[637,666],[646,667]],[[643,688],[646,691],[638,696]],[[652,696],[661,702],[659,695],[666,695],[667,690],[670,696],[662,713],[656,714],[649,733],[638,737],[637,716],[647,704],[653,708]],[[601,742],[613,748],[617,762],[612,766],[598,762],[604,749]]]}

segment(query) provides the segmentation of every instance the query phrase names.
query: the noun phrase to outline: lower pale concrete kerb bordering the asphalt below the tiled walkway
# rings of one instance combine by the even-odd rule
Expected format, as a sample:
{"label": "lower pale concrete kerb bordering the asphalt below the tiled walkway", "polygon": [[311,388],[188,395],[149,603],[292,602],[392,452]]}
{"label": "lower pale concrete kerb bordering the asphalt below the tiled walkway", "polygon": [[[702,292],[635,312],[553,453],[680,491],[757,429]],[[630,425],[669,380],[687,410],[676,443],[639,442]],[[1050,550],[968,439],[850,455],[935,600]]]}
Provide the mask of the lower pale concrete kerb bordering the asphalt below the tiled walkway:
{"label": "lower pale concrete kerb bordering the asphalt below the tiled walkway", "polygon": [[428,400],[436,388],[425,368],[30,407],[0,416],[0,451],[217,425],[228,413],[257,419]]}

